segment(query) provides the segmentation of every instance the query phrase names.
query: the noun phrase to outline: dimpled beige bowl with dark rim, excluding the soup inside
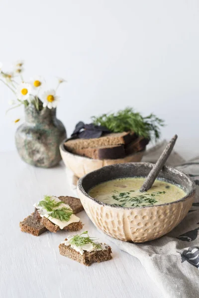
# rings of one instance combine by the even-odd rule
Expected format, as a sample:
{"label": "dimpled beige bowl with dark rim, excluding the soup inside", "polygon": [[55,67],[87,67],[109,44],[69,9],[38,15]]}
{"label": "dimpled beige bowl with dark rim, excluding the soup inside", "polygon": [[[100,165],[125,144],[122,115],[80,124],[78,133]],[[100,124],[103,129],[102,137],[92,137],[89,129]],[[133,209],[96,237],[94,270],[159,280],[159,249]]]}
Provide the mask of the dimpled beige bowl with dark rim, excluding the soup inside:
{"label": "dimpled beige bowl with dark rim, excluding the soup inside", "polygon": [[88,195],[95,185],[117,178],[146,177],[152,163],[134,162],[105,166],[78,181],[78,195],[91,221],[107,235],[123,241],[146,242],[170,232],[190,210],[195,183],[185,173],[164,166],[158,179],[180,186],[187,195],[175,202],[162,205],[123,208],[102,203]]}

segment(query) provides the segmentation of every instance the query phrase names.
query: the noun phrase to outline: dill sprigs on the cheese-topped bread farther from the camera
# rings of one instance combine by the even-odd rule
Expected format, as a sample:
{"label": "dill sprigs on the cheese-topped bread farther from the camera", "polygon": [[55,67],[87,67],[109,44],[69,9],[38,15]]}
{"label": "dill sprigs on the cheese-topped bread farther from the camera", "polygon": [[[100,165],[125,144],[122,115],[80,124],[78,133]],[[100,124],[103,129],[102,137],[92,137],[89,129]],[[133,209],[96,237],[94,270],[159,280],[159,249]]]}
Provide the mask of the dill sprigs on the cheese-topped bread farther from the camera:
{"label": "dill sprigs on the cheese-topped bread farther from the camera", "polygon": [[68,222],[73,214],[73,210],[67,207],[58,208],[64,202],[56,202],[51,196],[44,196],[44,200],[39,202],[39,206],[44,207],[52,218],[61,222]]}

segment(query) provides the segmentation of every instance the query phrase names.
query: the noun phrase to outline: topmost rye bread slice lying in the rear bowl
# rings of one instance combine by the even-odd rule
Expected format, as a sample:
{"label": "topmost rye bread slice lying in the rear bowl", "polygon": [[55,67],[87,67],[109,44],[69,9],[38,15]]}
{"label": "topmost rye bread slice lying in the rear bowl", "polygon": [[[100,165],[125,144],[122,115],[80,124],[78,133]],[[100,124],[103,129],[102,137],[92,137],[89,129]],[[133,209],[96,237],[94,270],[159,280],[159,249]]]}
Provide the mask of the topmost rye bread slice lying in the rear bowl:
{"label": "topmost rye bread slice lying in the rear bowl", "polygon": [[124,145],[132,141],[133,134],[129,132],[106,134],[95,139],[74,139],[64,143],[65,148],[76,153],[77,149],[96,148],[101,146]]}

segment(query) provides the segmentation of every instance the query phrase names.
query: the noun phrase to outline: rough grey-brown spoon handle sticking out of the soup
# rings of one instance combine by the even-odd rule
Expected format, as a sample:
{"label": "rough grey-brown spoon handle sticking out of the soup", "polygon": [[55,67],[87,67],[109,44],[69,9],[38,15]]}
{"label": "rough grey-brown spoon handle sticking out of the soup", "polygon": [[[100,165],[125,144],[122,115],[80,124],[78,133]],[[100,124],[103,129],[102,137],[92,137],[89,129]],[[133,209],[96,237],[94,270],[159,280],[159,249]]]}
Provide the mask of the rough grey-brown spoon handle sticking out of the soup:
{"label": "rough grey-brown spoon handle sticking out of the soup", "polygon": [[153,185],[153,182],[155,181],[156,177],[158,176],[159,172],[161,171],[163,165],[167,161],[167,158],[169,157],[172,149],[174,148],[174,145],[176,143],[178,136],[175,135],[169,144],[166,146],[160,157],[158,158],[157,162],[154,164],[153,168],[151,169],[150,173],[144,180],[144,183],[142,184],[140,188],[140,192],[147,191],[151,186]]}

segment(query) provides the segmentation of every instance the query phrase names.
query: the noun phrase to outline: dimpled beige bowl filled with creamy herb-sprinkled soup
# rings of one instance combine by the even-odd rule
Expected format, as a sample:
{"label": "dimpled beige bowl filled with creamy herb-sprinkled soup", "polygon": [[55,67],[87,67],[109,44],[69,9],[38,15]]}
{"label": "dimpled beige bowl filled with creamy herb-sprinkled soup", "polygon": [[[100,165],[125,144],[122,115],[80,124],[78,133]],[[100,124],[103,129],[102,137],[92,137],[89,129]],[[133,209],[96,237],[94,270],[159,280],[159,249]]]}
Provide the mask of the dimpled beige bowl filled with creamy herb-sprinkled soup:
{"label": "dimpled beige bowl filled with creamy herb-sprinkled soup", "polygon": [[153,186],[139,189],[152,163],[113,164],[78,181],[78,195],[91,221],[123,241],[146,242],[170,232],[190,210],[196,186],[185,173],[164,166]]}

